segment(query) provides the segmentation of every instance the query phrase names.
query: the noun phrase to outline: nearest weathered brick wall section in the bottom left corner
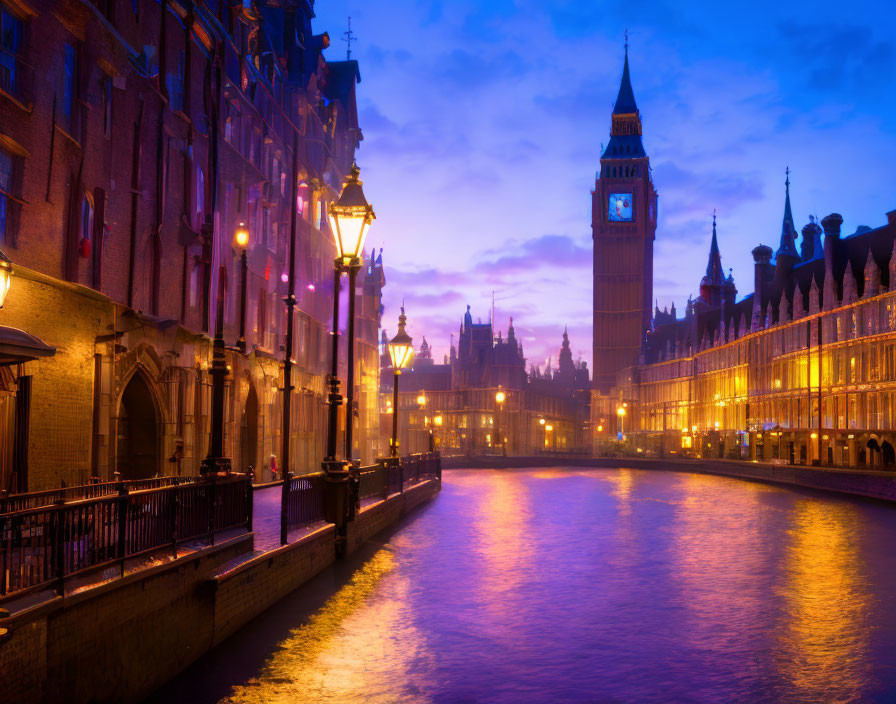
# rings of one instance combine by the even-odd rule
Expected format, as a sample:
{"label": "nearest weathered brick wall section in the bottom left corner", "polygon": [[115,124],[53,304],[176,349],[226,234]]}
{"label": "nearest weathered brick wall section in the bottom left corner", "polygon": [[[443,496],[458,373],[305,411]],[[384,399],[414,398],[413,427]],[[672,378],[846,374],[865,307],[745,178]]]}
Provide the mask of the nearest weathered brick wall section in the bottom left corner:
{"label": "nearest weathered brick wall section in the bottom left corner", "polygon": [[209,578],[247,546],[237,539],[16,614],[0,643],[0,701],[139,701],[211,647]]}

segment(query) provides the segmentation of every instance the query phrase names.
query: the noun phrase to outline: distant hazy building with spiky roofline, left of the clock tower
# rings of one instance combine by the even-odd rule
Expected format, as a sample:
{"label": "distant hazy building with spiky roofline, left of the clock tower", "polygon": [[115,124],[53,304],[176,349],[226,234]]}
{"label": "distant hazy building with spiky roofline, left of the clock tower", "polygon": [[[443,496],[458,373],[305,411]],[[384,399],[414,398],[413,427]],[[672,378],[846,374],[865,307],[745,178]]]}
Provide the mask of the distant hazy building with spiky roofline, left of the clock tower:
{"label": "distant hazy building with spiky roofline, left of the clock tower", "polygon": [[[385,346],[385,332],[382,341]],[[431,436],[448,453],[501,448],[523,455],[582,449],[587,444],[590,380],[587,366],[573,361],[565,330],[559,359],[558,370],[550,374],[527,374],[513,318],[505,337],[495,331],[492,321],[473,322],[467,306],[457,344],[452,337],[444,363],[435,363],[424,337],[413,367],[401,374],[399,446],[403,451],[425,450]],[[386,442],[392,430],[394,375],[385,350],[381,360],[381,428]],[[499,394],[503,401],[497,400]]]}

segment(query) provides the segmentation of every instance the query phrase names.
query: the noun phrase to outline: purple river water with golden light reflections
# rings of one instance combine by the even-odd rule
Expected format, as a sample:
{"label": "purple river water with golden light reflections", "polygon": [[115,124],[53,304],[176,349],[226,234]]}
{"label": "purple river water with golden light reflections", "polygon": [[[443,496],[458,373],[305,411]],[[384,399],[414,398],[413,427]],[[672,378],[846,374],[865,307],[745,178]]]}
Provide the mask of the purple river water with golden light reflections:
{"label": "purple river water with golden light reflections", "polygon": [[896,508],[723,477],[454,470],[159,693],[893,702]]}

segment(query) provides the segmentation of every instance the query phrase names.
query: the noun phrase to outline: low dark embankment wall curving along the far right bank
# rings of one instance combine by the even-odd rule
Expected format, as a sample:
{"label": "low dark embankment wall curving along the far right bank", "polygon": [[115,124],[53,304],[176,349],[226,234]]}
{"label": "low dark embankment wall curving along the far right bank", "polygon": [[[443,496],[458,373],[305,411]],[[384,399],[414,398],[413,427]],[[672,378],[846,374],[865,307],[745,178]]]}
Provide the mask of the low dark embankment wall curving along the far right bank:
{"label": "low dark embankment wall curving along the far right bank", "polygon": [[666,472],[715,474],[767,484],[818,489],[837,494],[896,502],[896,473],[835,467],[764,464],[737,460],[686,460],[654,457],[443,457],[443,469],[515,469],[529,467],[587,467],[649,469]]}

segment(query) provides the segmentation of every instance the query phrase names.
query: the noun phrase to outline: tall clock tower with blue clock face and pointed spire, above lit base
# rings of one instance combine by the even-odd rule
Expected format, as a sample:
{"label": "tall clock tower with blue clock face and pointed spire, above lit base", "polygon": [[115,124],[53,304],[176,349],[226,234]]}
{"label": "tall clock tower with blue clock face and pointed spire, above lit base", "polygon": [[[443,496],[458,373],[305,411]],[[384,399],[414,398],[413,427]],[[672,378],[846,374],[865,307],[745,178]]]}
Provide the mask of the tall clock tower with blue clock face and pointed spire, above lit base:
{"label": "tall clock tower with blue clock face and pointed spire, above lit base", "polygon": [[617,373],[638,362],[653,303],[657,195],[641,143],[641,115],[628,70],[613,107],[610,143],[591,194],[594,238],[594,389],[606,393]]}

